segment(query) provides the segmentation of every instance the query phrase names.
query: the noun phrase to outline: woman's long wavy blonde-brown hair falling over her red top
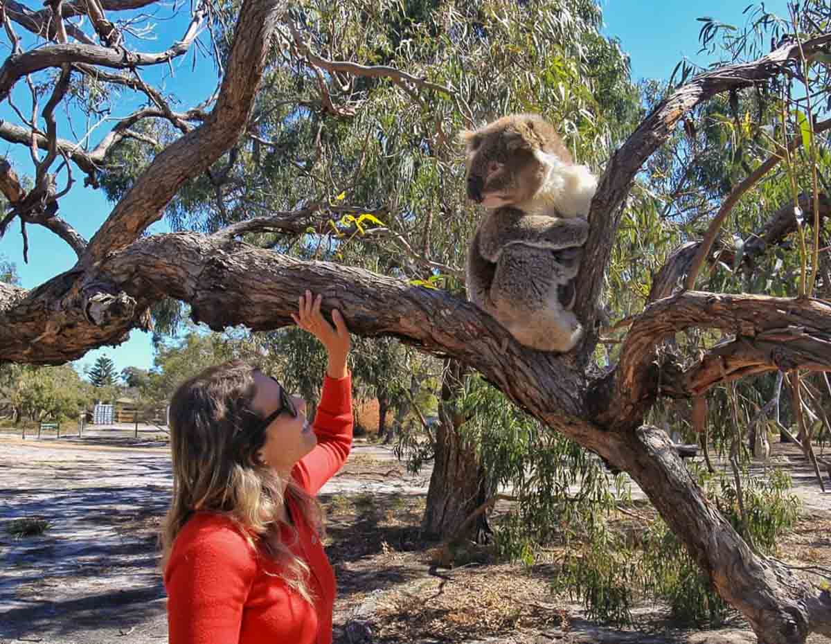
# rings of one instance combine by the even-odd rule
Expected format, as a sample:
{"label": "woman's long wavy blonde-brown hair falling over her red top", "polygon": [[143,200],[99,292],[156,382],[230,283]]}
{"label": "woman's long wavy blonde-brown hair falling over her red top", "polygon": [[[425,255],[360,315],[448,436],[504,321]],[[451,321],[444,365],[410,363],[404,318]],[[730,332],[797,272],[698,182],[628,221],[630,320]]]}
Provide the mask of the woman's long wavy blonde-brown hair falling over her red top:
{"label": "woman's long wavy blonde-brown hair falling over her red top", "polygon": [[293,479],[284,481],[259,460],[266,435],[263,416],[251,406],[254,371],[241,360],[209,367],[180,385],[170,401],[173,499],[161,529],[161,565],[188,519],[207,510],[233,520],[251,548],[281,563],[280,577],[312,602],[307,563],[279,538],[283,525],[297,538],[296,528],[280,519],[283,488],[321,536],[322,509]]}

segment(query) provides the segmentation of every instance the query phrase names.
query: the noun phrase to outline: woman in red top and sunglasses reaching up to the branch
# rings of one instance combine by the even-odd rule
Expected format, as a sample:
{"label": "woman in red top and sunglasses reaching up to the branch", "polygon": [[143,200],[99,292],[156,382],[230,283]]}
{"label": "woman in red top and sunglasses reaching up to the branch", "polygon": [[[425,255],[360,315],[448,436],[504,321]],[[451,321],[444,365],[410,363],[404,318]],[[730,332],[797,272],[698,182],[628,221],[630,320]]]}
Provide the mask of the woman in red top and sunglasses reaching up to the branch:
{"label": "woman in red top and sunglasses reaching up to the branch", "polygon": [[173,501],[162,535],[170,644],[330,644],[335,576],[314,495],[352,445],[350,337],[299,298],[294,322],[327,350],[314,425],[278,381],[231,361],[170,404]]}

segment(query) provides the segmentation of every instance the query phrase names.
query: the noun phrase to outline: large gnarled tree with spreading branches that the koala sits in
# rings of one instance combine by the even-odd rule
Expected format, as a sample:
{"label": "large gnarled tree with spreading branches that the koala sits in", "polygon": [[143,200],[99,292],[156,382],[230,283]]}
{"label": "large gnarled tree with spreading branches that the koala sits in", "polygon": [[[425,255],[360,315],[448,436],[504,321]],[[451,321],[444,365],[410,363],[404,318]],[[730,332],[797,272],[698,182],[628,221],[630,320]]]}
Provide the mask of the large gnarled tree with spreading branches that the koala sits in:
{"label": "large gnarled tree with spreading branches that the koala sits in", "polygon": [[[20,219],[24,231],[27,225],[42,225],[75,250],[78,262],[70,271],[31,291],[0,285],[0,358],[41,365],[76,359],[94,347],[123,342],[130,329],[149,328],[150,307],[167,298],[187,303],[194,320],[217,331],[241,324],[257,331],[273,330],[291,322],[297,295],[310,288],[323,294],[325,311],[338,307],[343,312],[352,332],[366,337],[398,337],[420,351],[448,356],[465,369],[479,371],[548,430],[570,437],[631,474],[720,595],[744,613],[760,642],[795,644],[804,642],[810,632],[831,635],[829,591],[804,582],[784,564],[750,548],[691,478],[671,450],[666,433],[647,422],[657,401],[667,396],[699,400],[719,383],[765,371],[796,372],[798,383],[799,370],[831,369],[825,331],[831,327],[831,309],[809,297],[815,287],[828,288],[827,277],[819,271],[818,182],[809,180],[807,184],[814,188],[810,191],[813,194],[805,195],[812,207],[795,211],[813,217],[803,221],[794,216],[794,205],[802,202],[800,195],[791,191],[775,205],[785,213],[784,227],[775,234],[770,229],[770,242],[759,249],[760,254],[765,253],[791,233],[798,240],[806,239],[804,224],[811,225],[814,238],[806,240],[805,248],[811,253],[802,253],[800,273],[806,277],[800,279],[799,297],[695,290],[701,264],[713,258],[716,223],[699,231],[707,232],[705,241],[686,238],[676,253],[667,255],[666,263],[651,280],[648,297],[642,298],[645,306],[636,308],[635,317],[618,327],[627,331],[617,348],[610,352],[598,349],[604,281],[616,240],[624,233],[623,204],[647,161],[670,139],[677,125],[695,116],[697,106],[715,96],[756,88],[784,90],[774,91],[771,97],[784,115],[781,123],[760,125],[760,132],[778,142],[771,144],[777,150],[771,165],[785,157],[790,176],[804,179],[805,173],[800,173],[792,160],[792,155],[804,155],[808,160],[804,168],[811,179],[823,162],[820,150],[828,141],[824,125],[814,120],[818,113],[814,106],[818,100],[815,92],[822,93],[829,85],[824,47],[831,37],[819,33],[817,27],[828,17],[827,5],[802,3],[799,12],[794,7],[792,28],[787,22],[760,22],[765,46],[768,35],[775,36],[774,43],[779,46],[766,53],[746,47],[729,65],[697,76],[686,75],[614,151],[591,209],[592,231],[585,255],[592,261],[583,263],[576,281],[581,294],[576,312],[589,332],[578,349],[560,356],[520,347],[458,293],[428,288],[434,284],[427,279],[422,279],[421,285],[402,279],[411,277],[404,270],[404,261],[403,268],[390,274],[321,261],[336,259],[338,253],[345,256],[344,248],[360,241],[361,231],[372,238],[377,229],[379,237],[398,244],[402,258],[411,258],[413,264],[429,271],[430,277],[441,271],[461,278],[458,266],[433,258],[430,232],[440,229],[442,223],[420,210],[420,199],[428,189],[446,194],[440,218],[467,214],[473,219],[474,211],[461,204],[461,170],[458,162],[451,160],[449,135],[474,120],[470,103],[464,100],[465,91],[472,92],[475,87],[486,96],[498,97],[503,88],[491,84],[498,71],[492,67],[469,76],[467,72],[474,70],[460,64],[461,57],[455,58],[459,51],[455,46],[465,39],[489,46],[499,40],[491,37],[490,23],[484,26],[489,14],[498,11],[501,19],[494,23],[511,25],[521,12],[535,11],[545,3],[415,2],[410,7],[420,14],[415,17],[398,14],[393,7],[373,5],[361,7],[360,20],[347,22],[340,21],[337,13],[346,10],[342,3],[317,7],[310,2],[302,5],[302,12],[287,12],[273,0],[243,0],[238,9],[223,7],[221,12],[212,5],[198,5],[184,37],[157,54],[129,49],[135,42],[130,36],[135,25],[130,32],[113,31],[115,23],[101,17],[103,11],[117,12],[142,4],[144,0],[87,3],[91,7],[89,22],[74,21],[81,10],[69,3],[39,12],[23,12],[10,2],[4,5],[14,52],[0,69],[0,100],[8,100],[17,81],[26,75],[36,76],[32,87],[42,83],[49,98],[37,123],[28,122],[21,111],[22,125],[5,120],[0,125],[2,138],[31,146],[35,163],[33,187],[28,190],[5,170],[0,187],[12,209],[3,219],[2,229],[7,229],[12,219]],[[52,7],[61,7],[60,13],[53,14]],[[569,7],[577,10],[574,20],[599,19],[593,2],[573,2]],[[435,12],[431,13],[432,9]],[[390,17],[395,20],[387,20]],[[362,41],[348,51],[313,37],[321,32],[322,24],[331,23],[341,29],[344,41],[351,34],[362,38],[366,33],[364,18],[389,24],[386,37]],[[222,83],[209,105],[177,112],[168,96],[140,79],[138,70],[164,65],[184,54],[205,22],[218,29],[233,26],[214,42],[217,62],[224,71]],[[22,51],[28,42],[13,36],[15,25],[42,33],[49,42]],[[774,25],[770,28],[778,31],[768,34],[765,25]],[[86,27],[92,31],[83,32]],[[543,27],[548,25],[541,23]],[[561,22],[556,28],[568,34],[573,24]],[[533,30],[522,30],[516,36],[522,39],[518,40],[522,46],[516,47],[522,52],[534,49],[534,39],[538,40],[538,32]],[[68,38],[76,42],[68,43]],[[317,49],[319,42],[323,51]],[[438,49],[445,52],[441,65],[413,60],[411,69],[405,71],[376,64],[392,52],[417,52],[429,42],[439,42]],[[572,86],[568,76],[577,73],[573,61],[580,60],[580,53],[573,50],[607,54],[597,39],[579,42],[563,38],[563,42],[571,43],[563,56],[544,58],[548,61],[544,69],[541,57],[539,65],[529,68],[528,74],[534,78],[545,79],[549,74],[563,78],[544,91],[525,95],[529,107],[544,100],[554,111],[558,101],[567,101]],[[505,65],[510,66],[510,61],[506,58]],[[135,73],[110,71],[113,69]],[[51,76],[51,70],[57,75]],[[297,74],[293,75],[294,71]],[[264,75],[272,79],[293,75],[295,93],[281,99],[263,96],[272,103],[259,105],[258,87]],[[801,96],[796,96],[799,88],[789,79],[804,81]],[[374,100],[378,107],[370,112],[364,109],[365,91],[373,84],[383,88],[388,100],[382,102],[382,94],[377,94]],[[93,150],[57,135],[55,108],[61,101],[89,106],[90,101],[106,95],[102,89],[114,86],[140,92],[147,105],[118,121]],[[37,91],[33,92],[37,96]],[[593,96],[581,98],[594,100]],[[476,117],[502,111],[503,106],[504,101],[480,105]],[[301,114],[313,117],[297,118]],[[588,114],[591,116],[591,111]],[[371,121],[372,127],[350,129],[350,123],[364,120]],[[593,118],[585,120],[582,128],[566,132],[573,135],[578,152],[580,146],[602,146],[604,140],[611,145],[608,130],[595,130]],[[428,124],[430,136],[421,138]],[[761,129],[768,125],[772,134]],[[63,130],[71,131],[61,127]],[[338,175],[317,172],[318,155],[337,154],[337,145],[343,141],[336,136],[338,132],[352,135],[354,145],[366,141],[371,176],[394,179],[400,186],[391,193],[395,199],[383,209],[375,209],[374,214],[363,208],[364,199],[384,194],[379,190],[385,182],[367,181],[361,189],[339,199],[352,178],[364,174],[360,163],[344,165]],[[292,139],[306,142],[307,155],[283,154],[281,146]],[[400,166],[385,149],[396,140],[406,141],[414,150],[401,157]],[[432,154],[436,149],[444,151]],[[46,154],[41,157],[39,151]],[[59,156],[63,163],[51,172]],[[294,173],[296,189],[316,199],[294,203],[286,199],[283,210],[271,208],[263,211],[268,212],[263,216],[250,216],[252,194],[267,193],[270,207],[282,199],[284,187],[280,184],[272,193],[265,175],[247,173],[257,163]],[[72,168],[81,170],[93,187],[108,180],[116,198],[111,214],[89,242],[57,214],[64,188],[58,189],[55,175],[65,170],[68,184]],[[751,170],[748,179],[732,188],[719,219],[730,213],[735,198],[754,184],[754,175],[764,174],[765,167]],[[438,179],[427,182],[426,176]],[[799,181],[793,182],[794,187],[798,185]],[[143,235],[169,207],[174,214],[184,214],[189,212],[189,204],[204,206],[203,197],[209,190],[219,199],[199,213],[199,231]],[[343,203],[347,197],[351,204]],[[383,221],[383,214],[392,212],[398,229],[361,219],[371,214]],[[770,217],[770,212],[767,214]],[[420,226],[422,221],[424,226]],[[447,229],[445,233],[446,244],[464,248],[463,231]],[[301,239],[302,251],[297,252],[301,257],[288,253],[297,238]],[[24,249],[26,244],[24,236]],[[713,265],[716,269],[719,266]],[[676,288],[679,277],[685,275],[683,288]],[[646,284],[640,284],[642,291],[647,290]],[[632,307],[636,302],[630,301]],[[701,351],[683,356],[664,350],[668,337],[691,327],[709,334],[702,337],[709,342]],[[722,342],[715,344],[717,339]],[[602,368],[597,365],[598,352],[609,359],[607,365],[601,361]]]}

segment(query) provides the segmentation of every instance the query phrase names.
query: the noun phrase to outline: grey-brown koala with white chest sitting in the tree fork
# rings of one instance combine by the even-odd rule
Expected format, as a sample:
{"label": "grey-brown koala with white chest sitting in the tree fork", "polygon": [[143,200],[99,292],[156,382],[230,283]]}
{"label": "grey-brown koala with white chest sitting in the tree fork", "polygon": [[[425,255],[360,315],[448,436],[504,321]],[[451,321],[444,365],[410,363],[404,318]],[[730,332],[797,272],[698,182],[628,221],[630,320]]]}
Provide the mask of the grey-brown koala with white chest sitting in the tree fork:
{"label": "grey-brown koala with white chest sitting in the tree fork", "polygon": [[597,179],[537,115],[504,116],[460,138],[467,196],[488,211],[470,241],[469,299],[521,344],[571,351],[583,334],[570,309]]}

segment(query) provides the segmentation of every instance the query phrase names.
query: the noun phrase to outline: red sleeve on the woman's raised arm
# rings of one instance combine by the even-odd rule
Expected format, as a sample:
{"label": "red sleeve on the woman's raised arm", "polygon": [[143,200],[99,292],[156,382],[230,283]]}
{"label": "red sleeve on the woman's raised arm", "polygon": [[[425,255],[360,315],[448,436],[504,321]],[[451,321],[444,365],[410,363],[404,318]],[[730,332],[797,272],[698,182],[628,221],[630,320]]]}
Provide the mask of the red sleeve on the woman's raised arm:
{"label": "red sleeve on the woman's raised arm", "polygon": [[314,417],[317,447],[294,466],[293,476],[310,494],[317,494],[341,469],[352,450],[352,377],[325,376]]}

